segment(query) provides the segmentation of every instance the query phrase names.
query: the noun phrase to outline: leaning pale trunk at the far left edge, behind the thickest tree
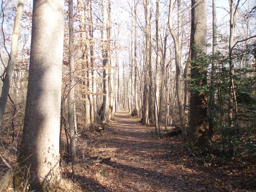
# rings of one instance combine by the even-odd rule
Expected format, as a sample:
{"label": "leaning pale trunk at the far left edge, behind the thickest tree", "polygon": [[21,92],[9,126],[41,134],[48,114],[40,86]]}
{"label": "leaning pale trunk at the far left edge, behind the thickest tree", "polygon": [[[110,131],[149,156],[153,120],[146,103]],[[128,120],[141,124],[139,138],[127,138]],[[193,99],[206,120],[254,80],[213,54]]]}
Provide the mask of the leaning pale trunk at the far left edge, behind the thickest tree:
{"label": "leaning pale trunk at the far left edge, behind the thickest tree", "polygon": [[0,97],[0,130],[1,130],[1,125],[2,125],[2,121],[3,121],[4,110],[6,107],[7,97],[8,97],[9,90],[10,90],[12,72],[13,72],[14,64],[16,62],[16,57],[17,57],[18,40],[19,40],[19,36],[20,36],[20,21],[22,18],[23,7],[24,7],[24,0],[19,0],[16,16],[14,19],[11,52],[9,55],[8,65],[6,68],[6,73],[5,73],[4,82],[3,82],[3,88],[2,88],[1,97]]}

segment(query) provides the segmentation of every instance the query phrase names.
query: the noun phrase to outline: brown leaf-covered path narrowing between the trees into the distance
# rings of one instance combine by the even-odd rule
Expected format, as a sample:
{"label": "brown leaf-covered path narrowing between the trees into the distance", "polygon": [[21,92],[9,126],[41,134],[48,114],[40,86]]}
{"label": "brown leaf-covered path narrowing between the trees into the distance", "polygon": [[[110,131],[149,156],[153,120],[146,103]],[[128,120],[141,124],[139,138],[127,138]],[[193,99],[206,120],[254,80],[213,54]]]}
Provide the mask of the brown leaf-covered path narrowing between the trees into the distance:
{"label": "brown leaf-covered path narrowing between the trees into the distance", "polygon": [[89,151],[111,160],[80,167],[74,191],[228,191],[218,185],[222,175],[213,177],[193,164],[193,156],[182,156],[182,150],[180,138],[157,140],[154,128],[142,126],[122,110]]}

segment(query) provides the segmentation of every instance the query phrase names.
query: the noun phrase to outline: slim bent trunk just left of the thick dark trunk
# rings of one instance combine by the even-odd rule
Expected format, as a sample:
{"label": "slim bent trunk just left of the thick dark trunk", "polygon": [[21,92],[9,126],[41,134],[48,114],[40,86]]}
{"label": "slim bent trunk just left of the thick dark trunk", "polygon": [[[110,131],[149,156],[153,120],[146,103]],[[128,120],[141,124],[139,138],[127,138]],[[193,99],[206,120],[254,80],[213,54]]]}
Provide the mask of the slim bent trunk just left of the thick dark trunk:
{"label": "slim bent trunk just left of the thick dark trunk", "polygon": [[173,10],[173,1],[170,0],[168,22],[169,22],[169,28],[170,28],[170,32],[172,35],[172,39],[174,41],[174,48],[175,48],[176,91],[177,91],[177,98],[178,98],[180,124],[181,124],[183,141],[186,142],[187,132],[186,132],[186,125],[185,125],[183,106],[182,106],[182,95],[181,95],[182,90],[181,90],[181,85],[180,85],[180,51],[179,51],[178,38],[176,37],[174,30],[173,30],[173,26],[172,26],[172,10]]}

